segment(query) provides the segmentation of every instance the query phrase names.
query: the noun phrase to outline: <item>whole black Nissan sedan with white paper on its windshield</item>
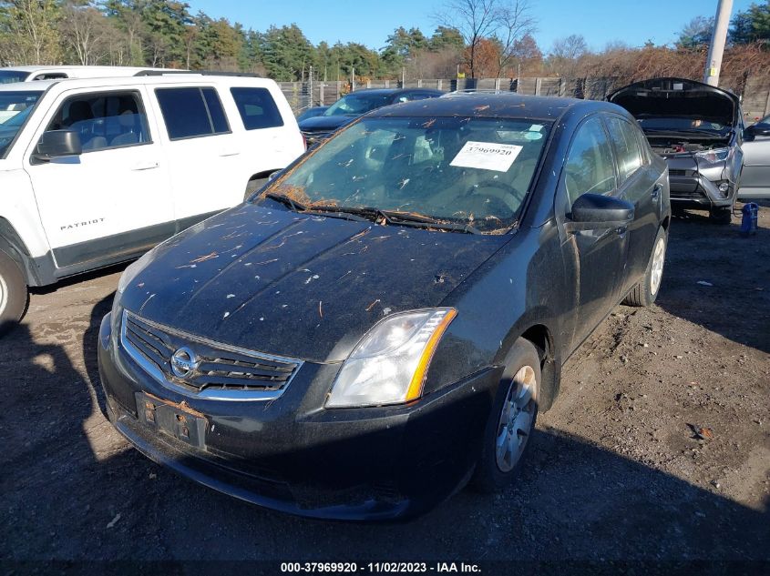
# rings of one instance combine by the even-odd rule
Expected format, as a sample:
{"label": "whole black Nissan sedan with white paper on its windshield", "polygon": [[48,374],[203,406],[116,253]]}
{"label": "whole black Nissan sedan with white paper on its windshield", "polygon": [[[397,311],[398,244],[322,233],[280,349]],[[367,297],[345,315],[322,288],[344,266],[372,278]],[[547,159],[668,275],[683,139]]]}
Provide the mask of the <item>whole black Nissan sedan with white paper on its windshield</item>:
{"label": "whole black Nissan sedan with white paper on its windshield", "polygon": [[565,360],[655,299],[669,215],[665,162],[619,106],[381,108],[126,270],[100,332],[109,418],[182,475],[306,516],[501,489]]}

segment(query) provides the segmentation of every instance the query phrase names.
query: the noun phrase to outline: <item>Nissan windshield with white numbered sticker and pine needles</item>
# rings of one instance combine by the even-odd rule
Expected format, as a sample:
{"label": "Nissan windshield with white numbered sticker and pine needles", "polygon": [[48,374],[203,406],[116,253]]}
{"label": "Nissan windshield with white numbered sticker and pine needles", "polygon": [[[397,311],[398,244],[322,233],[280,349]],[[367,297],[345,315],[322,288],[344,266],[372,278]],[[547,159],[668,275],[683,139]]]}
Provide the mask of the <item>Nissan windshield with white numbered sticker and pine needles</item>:
{"label": "Nissan windshield with white numbered sticker and pine needles", "polygon": [[289,198],[294,209],[379,211],[390,224],[500,233],[518,219],[548,132],[548,123],[526,119],[366,117],[264,195]]}

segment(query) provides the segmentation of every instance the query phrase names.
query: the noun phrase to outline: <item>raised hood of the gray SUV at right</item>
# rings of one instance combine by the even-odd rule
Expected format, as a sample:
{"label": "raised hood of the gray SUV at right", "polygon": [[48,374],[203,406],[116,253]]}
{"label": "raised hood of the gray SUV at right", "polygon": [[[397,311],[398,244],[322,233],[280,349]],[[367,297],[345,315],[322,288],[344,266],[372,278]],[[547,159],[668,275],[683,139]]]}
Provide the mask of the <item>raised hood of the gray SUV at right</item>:
{"label": "raised hood of the gray SUV at right", "polygon": [[700,117],[707,122],[736,126],[738,96],[686,78],[651,78],[616,90],[607,100],[631,115]]}

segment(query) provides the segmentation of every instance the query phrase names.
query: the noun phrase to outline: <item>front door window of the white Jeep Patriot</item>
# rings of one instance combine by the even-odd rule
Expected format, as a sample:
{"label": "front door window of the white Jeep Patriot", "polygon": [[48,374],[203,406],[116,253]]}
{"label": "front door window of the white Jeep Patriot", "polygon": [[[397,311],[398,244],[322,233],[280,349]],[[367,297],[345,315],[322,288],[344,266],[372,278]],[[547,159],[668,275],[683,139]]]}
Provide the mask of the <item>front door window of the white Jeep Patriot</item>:
{"label": "front door window of the white Jeep Patriot", "polygon": [[71,96],[59,106],[46,130],[74,130],[83,152],[149,144],[147,116],[136,92]]}

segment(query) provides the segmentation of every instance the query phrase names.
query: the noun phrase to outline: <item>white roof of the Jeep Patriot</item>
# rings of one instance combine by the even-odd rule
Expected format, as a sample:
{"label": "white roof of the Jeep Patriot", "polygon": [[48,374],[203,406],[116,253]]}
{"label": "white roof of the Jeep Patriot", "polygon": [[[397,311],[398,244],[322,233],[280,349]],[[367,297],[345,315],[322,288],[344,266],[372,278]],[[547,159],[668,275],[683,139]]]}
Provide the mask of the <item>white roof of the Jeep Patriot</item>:
{"label": "white roof of the Jeep Patriot", "polygon": [[[143,70],[146,68],[142,68]],[[210,74],[173,73],[157,76],[97,76],[83,78],[60,78],[55,80],[33,80],[31,82],[15,82],[0,85],[3,92],[30,92],[47,90],[51,86],[66,86],[67,89],[78,88],[109,88],[119,86],[164,86],[190,83],[221,84],[224,86],[274,86],[275,82],[268,78],[257,76],[216,76]]]}

